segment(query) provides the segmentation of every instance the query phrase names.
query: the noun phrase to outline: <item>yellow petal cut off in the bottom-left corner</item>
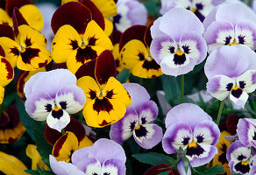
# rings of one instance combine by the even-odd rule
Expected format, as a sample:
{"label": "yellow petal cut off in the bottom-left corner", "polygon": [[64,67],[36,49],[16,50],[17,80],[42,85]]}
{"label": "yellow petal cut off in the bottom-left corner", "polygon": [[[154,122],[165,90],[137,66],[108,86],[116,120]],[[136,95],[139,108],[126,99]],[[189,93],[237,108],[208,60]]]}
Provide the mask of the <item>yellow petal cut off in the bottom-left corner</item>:
{"label": "yellow petal cut off in the bottom-left corner", "polygon": [[0,151],[0,172],[4,172],[7,175],[28,175],[28,173],[24,172],[25,170],[27,168],[18,158]]}

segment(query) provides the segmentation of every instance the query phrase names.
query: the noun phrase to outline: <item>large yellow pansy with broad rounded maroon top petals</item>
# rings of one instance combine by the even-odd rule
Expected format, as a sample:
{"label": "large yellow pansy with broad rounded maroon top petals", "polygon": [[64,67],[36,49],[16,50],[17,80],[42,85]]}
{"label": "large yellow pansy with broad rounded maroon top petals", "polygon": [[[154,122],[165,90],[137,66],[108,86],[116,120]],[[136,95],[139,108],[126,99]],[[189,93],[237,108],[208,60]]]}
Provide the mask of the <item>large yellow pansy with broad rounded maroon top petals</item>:
{"label": "large yellow pansy with broad rounded maroon top petals", "polygon": [[[96,7],[91,2],[90,6]],[[96,59],[105,49],[113,48],[110,38],[103,31],[101,12],[97,10],[92,13],[82,3],[61,5],[53,14],[52,28],[56,33],[52,43],[53,60],[57,63],[67,62],[72,73],[89,60]]]}

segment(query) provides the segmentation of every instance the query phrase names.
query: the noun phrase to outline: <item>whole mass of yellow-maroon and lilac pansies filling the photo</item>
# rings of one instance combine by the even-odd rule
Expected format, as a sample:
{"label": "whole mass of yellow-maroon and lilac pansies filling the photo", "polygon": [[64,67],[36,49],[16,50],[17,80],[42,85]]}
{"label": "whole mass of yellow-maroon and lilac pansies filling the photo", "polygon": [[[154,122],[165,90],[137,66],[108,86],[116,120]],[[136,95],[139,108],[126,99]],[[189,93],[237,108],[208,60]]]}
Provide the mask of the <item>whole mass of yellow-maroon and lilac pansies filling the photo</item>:
{"label": "whole mass of yellow-maroon and lilac pansies filling the photo", "polygon": [[[51,51],[40,32],[42,15],[30,0],[2,6],[0,143],[12,144],[25,133],[16,106],[4,108],[4,88],[18,72],[25,111],[46,123],[44,136],[53,146],[48,166],[35,145],[27,146],[32,170],[123,175],[128,157],[123,143],[133,137],[146,150],[161,143],[180,174],[202,165],[221,165],[227,174],[256,172],[256,119],[237,118],[232,133],[219,126],[224,100],[229,96],[243,109],[256,89],[256,14],[245,4],[162,0],[162,16],[147,21],[146,7],[136,0],[63,0],[51,18]],[[203,61],[207,93],[221,101],[216,123],[198,105],[184,103],[184,75]],[[181,76],[181,104],[167,107],[165,127],[157,124],[159,107],[146,88],[117,81],[124,69],[140,80]],[[91,127],[108,125],[110,139],[91,136]],[[26,174],[17,158],[4,152],[0,158],[0,171]],[[14,166],[18,169],[11,172]],[[156,167],[146,174],[173,171],[169,165]]]}

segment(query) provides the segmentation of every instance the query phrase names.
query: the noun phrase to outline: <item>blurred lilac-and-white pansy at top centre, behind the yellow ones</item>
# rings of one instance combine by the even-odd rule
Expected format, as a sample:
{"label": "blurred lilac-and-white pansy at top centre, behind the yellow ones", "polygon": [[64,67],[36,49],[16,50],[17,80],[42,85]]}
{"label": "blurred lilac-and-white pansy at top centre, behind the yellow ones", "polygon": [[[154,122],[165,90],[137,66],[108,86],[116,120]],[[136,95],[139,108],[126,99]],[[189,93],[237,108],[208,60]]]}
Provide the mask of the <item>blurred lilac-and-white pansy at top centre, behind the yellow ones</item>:
{"label": "blurred lilac-and-white pansy at top centre, behind the yellow ones", "polygon": [[114,25],[118,31],[124,32],[132,25],[146,25],[147,11],[138,0],[118,0],[117,16]]}

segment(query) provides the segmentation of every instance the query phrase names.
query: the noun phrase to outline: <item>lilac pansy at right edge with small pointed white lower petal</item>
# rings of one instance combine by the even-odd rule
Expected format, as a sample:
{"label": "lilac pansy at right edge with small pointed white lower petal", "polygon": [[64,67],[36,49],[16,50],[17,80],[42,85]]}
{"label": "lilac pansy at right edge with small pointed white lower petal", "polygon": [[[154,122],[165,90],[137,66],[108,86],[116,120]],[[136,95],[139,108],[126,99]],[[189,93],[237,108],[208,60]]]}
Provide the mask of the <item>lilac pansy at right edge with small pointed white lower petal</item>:
{"label": "lilac pansy at right edge with small pointed white lower petal", "polygon": [[210,53],[204,72],[210,95],[219,101],[230,96],[232,102],[244,107],[248,93],[256,88],[256,54],[243,45],[224,45]]}

